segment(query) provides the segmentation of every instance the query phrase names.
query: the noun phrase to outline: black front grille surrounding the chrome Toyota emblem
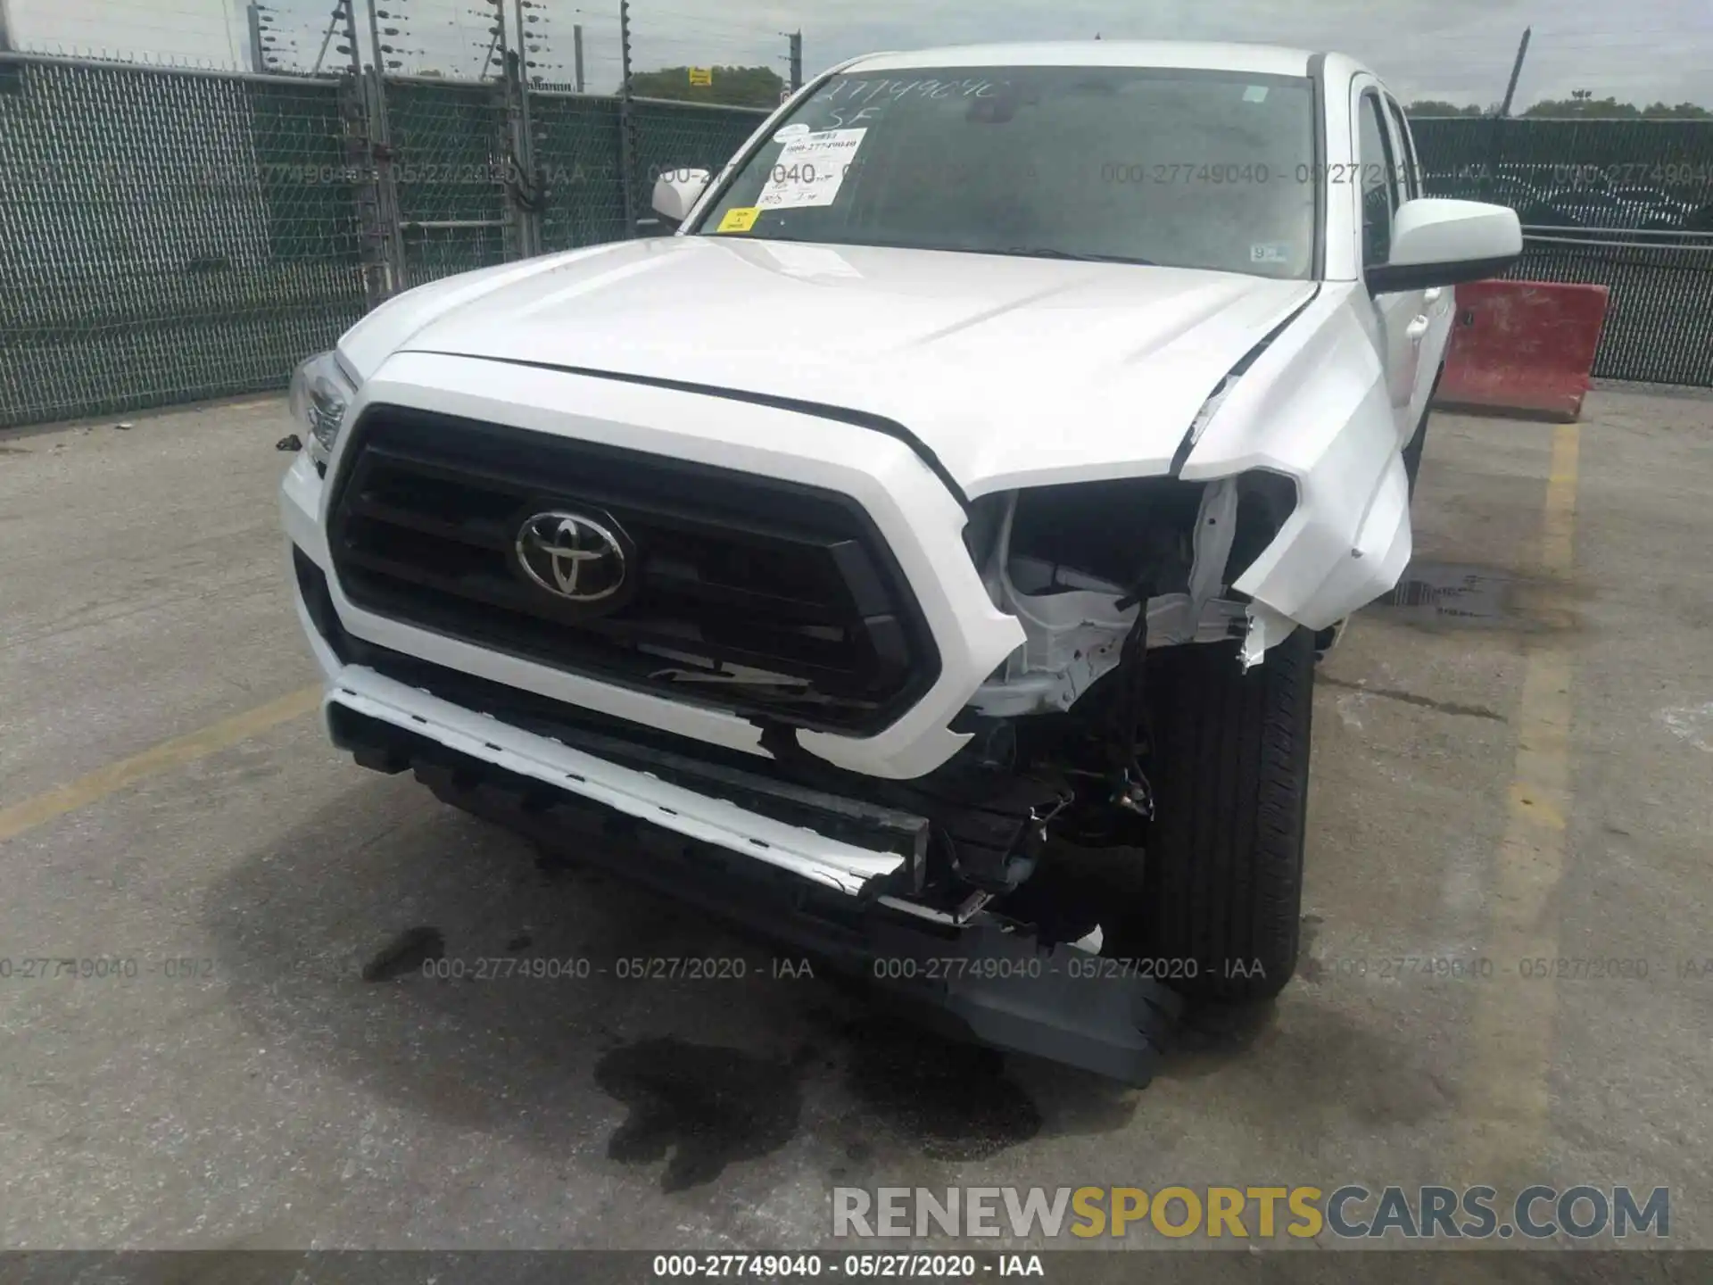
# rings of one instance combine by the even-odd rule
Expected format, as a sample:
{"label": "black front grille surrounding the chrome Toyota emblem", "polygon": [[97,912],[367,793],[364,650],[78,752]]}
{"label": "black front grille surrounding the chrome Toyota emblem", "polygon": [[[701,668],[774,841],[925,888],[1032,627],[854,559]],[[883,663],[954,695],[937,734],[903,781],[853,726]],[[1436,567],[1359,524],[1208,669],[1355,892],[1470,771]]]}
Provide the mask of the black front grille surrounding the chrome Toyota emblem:
{"label": "black front grille surrounding the chrome Toyota emblem", "polygon": [[[839,732],[886,726],[939,677],[891,550],[834,492],[397,406],[363,413],[336,487],[334,572],[377,615]],[[531,581],[519,531],[553,511],[622,533],[622,595],[576,605]]]}

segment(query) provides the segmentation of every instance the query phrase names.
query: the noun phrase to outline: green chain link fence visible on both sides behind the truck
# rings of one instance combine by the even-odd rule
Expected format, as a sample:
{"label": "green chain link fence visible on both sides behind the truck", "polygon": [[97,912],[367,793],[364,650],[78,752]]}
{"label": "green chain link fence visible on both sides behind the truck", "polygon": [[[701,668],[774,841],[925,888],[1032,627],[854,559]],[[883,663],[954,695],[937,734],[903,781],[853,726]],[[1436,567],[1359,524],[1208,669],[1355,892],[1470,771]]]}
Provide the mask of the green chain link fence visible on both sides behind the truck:
{"label": "green chain link fence visible on both sides behind the truck", "polygon": [[[281,387],[377,302],[634,235],[766,113],[428,75],[0,53],[0,427]],[[1413,120],[1513,204],[1516,276],[1597,281],[1595,374],[1713,387],[1713,122]]]}

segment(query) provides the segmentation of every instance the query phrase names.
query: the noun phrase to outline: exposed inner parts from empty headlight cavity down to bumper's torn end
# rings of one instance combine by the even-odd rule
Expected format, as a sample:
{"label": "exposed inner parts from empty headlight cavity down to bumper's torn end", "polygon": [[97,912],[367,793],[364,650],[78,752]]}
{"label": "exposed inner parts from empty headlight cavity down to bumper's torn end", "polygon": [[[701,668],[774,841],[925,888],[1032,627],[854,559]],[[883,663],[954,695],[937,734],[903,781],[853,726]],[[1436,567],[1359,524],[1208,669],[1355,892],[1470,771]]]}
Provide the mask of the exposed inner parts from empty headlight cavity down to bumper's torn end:
{"label": "exposed inner parts from empty headlight cavity down to bumper's torn end", "polygon": [[[862,800],[894,826],[922,819],[898,908],[958,922],[1016,903],[1048,937],[1081,935],[1093,927],[1088,908],[1062,884],[1052,898],[1036,896],[1038,867],[1057,843],[1144,846],[1155,814],[1149,677],[1160,653],[1225,644],[1233,668],[1261,658],[1259,648],[1244,649],[1254,605],[1230,586],[1293,504],[1293,483],[1262,471],[982,497],[966,547],[1026,641],[954,721],[970,735],[964,750],[928,776],[875,781],[827,771],[795,752],[781,728],[769,776],[824,790],[822,798]],[[764,805],[757,795],[740,798]],[[1055,927],[1040,923],[1048,906]]]}

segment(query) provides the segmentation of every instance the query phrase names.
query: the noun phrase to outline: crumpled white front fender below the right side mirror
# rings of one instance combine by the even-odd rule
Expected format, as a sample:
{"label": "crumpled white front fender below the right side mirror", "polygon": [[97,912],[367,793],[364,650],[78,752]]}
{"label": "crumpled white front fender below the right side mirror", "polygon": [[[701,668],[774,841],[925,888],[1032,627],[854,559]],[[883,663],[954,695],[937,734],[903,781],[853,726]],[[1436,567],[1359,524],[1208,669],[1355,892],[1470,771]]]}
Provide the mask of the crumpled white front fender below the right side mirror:
{"label": "crumpled white front fender below the right side mirror", "polygon": [[1223,397],[1180,469],[1297,483],[1292,516],[1233,588],[1316,631],[1393,589],[1410,562],[1410,487],[1360,290],[1328,283]]}

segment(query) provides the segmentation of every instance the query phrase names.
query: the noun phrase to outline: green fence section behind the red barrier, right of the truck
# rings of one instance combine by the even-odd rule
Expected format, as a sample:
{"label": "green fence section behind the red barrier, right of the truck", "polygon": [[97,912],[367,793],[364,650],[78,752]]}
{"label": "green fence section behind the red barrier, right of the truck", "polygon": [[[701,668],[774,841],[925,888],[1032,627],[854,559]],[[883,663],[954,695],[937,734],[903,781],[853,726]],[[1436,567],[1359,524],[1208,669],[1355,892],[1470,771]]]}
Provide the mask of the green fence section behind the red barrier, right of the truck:
{"label": "green fence section behind the red barrier, right of the truck", "polygon": [[1509,276],[1610,290],[1595,375],[1713,387],[1713,120],[1412,120],[1427,190],[1525,224]]}

